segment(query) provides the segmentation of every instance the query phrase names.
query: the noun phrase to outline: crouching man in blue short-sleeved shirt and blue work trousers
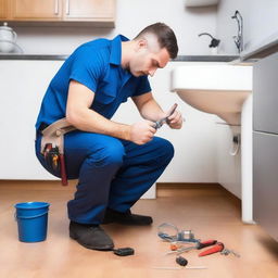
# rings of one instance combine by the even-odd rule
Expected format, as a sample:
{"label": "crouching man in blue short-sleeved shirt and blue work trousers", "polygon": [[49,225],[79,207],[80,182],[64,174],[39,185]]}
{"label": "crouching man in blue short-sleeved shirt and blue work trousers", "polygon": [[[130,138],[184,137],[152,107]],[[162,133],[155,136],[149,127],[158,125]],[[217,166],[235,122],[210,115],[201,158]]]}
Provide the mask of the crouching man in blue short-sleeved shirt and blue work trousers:
{"label": "crouching man in blue short-sleeved shirt and blue work trousers", "polygon": [[[78,47],[51,80],[36,123],[36,154],[42,166],[60,177],[40,152],[42,131],[66,118],[76,130],[64,136],[67,177],[78,179],[67,203],[70,237],[85,248],[112,250],[100,225],[151,225],[152,217],[130,207],[156,181],[174,155],[172,143],[155,137],[154,123],[166,117],[154,100],[148,76],[177,56],[174,31],[155,23],[132,40],[119,35]],[[131,98],[142,121],[131,125],[111,117]],[[180,112],[167,117],[170,128],[182,125]]]}

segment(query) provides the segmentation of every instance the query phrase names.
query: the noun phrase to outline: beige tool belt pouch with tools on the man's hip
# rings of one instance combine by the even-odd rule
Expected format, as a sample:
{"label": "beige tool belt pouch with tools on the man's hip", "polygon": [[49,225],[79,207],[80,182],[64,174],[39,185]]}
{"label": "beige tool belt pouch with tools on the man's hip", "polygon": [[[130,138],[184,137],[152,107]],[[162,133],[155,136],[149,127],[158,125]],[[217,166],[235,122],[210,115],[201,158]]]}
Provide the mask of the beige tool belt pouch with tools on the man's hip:
{"label": "beige tool belt pouch with tools on the man's hip", "polygon": [[76,130],[76,128],[72,126],[65,117],[41,130],[40,152],[47,165],[53,170],[60,172],[63,186],[67,186],[64,159],[64,135],[73,130]]}

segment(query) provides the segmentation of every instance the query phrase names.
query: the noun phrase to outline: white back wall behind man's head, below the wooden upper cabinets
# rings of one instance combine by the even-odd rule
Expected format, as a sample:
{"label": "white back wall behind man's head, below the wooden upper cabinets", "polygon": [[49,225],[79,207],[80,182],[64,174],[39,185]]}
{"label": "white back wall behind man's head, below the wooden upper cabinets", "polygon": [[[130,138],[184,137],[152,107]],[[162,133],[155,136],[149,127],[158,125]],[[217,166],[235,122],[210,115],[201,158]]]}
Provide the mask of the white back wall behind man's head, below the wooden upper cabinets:
{"label": "white back wall behind man's head, below the wooden upper cabinets", "polygon": [[14,27],[17,43],[28,54],[70,54],[77,46],[98,37],[123,34],[135,37],[143,27],[164,22],[176,33],[179,54],[210,54],[208,37],[215,35],[216,8],[188,9],[184,0],[117,0],[115,28]]}

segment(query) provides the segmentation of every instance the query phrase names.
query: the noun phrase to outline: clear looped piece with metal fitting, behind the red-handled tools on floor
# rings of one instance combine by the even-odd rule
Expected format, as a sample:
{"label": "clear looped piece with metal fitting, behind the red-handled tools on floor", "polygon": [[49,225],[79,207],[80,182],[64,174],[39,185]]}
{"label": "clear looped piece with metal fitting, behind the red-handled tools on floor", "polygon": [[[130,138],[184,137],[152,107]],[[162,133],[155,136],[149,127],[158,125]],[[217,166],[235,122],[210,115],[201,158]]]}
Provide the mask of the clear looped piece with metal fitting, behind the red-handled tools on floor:
{"label": "clear looped piece with metal fitting, behind the red-handled tools on floor", "polygon": [[[175,225],[163,223],[159,226],[157,236],[165,241],[176,242],[199,242],[191,230],[179,230]],[[169,235],[172,233],[172,235]]]}

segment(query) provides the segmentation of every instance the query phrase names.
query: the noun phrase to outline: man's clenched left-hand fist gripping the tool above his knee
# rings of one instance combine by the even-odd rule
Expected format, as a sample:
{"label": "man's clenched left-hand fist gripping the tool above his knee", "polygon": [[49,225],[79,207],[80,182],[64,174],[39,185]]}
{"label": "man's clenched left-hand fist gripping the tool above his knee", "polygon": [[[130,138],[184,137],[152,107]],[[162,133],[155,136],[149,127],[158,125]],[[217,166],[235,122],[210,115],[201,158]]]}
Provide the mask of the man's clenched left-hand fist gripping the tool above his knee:
{"label": "man's clenched left-hand fist gripping the tool above his knee", "polygon": [[144,144],[152,140],[156,129],[151,121],[142,121],[131,125],[130,141],[137,144]]}

